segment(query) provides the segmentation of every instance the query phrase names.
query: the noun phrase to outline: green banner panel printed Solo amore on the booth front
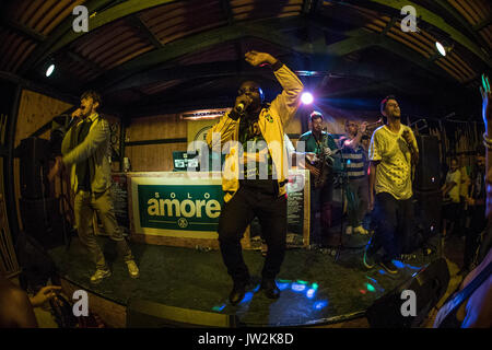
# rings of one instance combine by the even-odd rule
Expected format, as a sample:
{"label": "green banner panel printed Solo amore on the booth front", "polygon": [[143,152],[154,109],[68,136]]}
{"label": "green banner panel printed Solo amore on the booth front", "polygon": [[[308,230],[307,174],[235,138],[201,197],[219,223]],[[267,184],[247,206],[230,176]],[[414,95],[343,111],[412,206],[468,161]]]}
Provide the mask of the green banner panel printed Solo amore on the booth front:
{"label": "green banner panel printed Solo amore on the booth front", "polygon": [[142,228],[216,232],[221,185],[138,185]]}

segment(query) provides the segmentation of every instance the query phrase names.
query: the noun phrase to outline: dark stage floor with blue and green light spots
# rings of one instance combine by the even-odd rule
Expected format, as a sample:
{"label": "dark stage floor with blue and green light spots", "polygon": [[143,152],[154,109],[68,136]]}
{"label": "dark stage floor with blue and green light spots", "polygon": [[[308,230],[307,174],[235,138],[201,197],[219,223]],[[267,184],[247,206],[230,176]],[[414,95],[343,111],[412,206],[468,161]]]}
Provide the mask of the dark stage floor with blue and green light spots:
{"label": "dark stage floor with blue and green light spots", "polygon": [[[65,290],[89,292],[89,307],[112,327],[126,327],[130,301],[145,301],[181,310],[233,315],[235,326],[326,326],[364,317],[365,310],[378,298],[412,278],[437,256],[418,255],[408,264],[397,262],[397,276],[376,265],[362,265],[362,248],[343,249],[337,262],[326,250],[288,249],[277,283],[278,300],[259,291],[263,257],[258,250],[244,250],[254,283],[236,306],[227,302],[232,288],[219,250],[132,243],[140,278],[131,279],[121,258],[116,258],[113,242],[98,237],[113,271],[96,285],[89,280],[94,272],[85,249],[74,237],[69,249],[49,252]],[[106,317],[105,317],[106,316]],[[138,327],[134,323],[131,326]],[[145,325],[149,326],[149,325]],[[200,326],[200,320],[196,320]]]}

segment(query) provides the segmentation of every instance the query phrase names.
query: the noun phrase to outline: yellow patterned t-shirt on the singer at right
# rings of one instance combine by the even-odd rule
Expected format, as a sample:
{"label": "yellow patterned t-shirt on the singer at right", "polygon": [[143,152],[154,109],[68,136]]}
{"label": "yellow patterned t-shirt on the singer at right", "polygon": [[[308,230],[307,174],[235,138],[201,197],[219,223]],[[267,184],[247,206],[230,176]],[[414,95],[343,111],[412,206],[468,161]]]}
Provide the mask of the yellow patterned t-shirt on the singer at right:
{"label": "yellow patterned t-shirt on the singer at right", "polygon": [[411,153],[402,137],[405,130],[409,130],[417,150],[413,131],[406,125],[401,125],[398,132],[393,132],[386,126],[382,126],[374,131],[371,138],[370,160],[380,161],[376,171],[376,195],[388,192],[398,200],[412,197]]}

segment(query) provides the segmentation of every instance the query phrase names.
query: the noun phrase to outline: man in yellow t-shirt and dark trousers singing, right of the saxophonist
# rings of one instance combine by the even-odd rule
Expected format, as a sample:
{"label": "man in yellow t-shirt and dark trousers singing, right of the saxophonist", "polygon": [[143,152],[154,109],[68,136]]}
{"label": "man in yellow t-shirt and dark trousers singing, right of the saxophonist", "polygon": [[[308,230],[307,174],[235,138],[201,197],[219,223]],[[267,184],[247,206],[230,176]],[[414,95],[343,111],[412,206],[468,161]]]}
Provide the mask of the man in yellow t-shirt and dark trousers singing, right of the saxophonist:
{"label": "man in yellow t-shirt and dark trousers singing, right of the saxophonist", "polygon": [[419,161],[419,148],[412,129],[400,122],[395,96],[383,100],[380,112],[387,122],[374,131],[370,145],[370,208],[375,210],[376,231],[363,264],[372,268],[383,247],[379,265],[394,275],[398,269],[393,259],[406,246],[413,219],[411,173]]}

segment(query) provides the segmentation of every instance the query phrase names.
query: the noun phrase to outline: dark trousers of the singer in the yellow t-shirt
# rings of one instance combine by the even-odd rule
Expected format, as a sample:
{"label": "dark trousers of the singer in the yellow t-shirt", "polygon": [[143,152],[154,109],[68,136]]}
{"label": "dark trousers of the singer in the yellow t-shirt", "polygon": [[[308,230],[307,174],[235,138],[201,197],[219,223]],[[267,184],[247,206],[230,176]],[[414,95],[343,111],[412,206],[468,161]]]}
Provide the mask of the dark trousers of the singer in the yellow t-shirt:
{"label": "dark trousers of the singer in the yellow t-shirt", "polygon": [[380,260],[390,261],[402,253],[409,253],[406,250],[411,246],[409,240],[413,223],[412,198],[397,200],[390,194],[377,194],[373,220],[376,231],[371,241],[370,254],[376,254],[383,248]]}

